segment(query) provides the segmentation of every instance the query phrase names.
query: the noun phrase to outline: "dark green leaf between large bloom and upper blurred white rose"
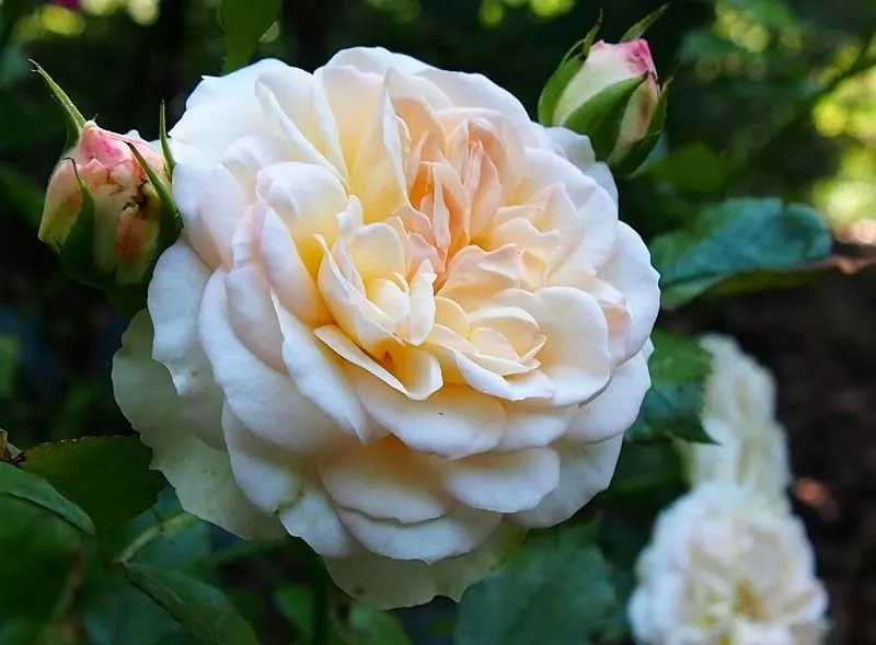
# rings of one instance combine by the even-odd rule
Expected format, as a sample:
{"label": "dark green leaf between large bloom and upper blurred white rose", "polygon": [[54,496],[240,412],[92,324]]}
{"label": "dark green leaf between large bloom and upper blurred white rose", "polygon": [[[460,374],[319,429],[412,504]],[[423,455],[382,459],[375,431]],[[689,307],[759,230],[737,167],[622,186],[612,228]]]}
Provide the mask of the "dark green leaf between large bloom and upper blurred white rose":
{"label": "dark green leaf between large bloom and upper blurred white rose", "polygon": [[700,412],[712,356],[695,339],[666,330],[655,330],[652,341],[654,354],[648,359],[652,387],[638,418],[626,431],[626,439],[680,437],[711,444]]}

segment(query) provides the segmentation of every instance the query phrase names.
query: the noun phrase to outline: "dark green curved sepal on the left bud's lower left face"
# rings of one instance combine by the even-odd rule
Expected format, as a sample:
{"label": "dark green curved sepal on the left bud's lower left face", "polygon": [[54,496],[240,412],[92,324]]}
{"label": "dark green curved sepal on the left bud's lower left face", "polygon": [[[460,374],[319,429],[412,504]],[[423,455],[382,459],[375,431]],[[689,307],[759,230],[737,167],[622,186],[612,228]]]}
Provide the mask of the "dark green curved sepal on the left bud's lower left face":
{"label": "dark green curved sepal on the left bud's lower left face", "polygon": [[104,289],[112,286],[115,281],[115,270],[102,273],[94,260],[97,207],[88,184],[79,176],[76,162],[72,159],[70,159],[69,162],[73,168],[76,181],[82,194],[82,205],[79,208],[79,215],[70,232],[67,234],[64,242],[61,242],[60,251],[58,252],[61,268],[84,285]]}

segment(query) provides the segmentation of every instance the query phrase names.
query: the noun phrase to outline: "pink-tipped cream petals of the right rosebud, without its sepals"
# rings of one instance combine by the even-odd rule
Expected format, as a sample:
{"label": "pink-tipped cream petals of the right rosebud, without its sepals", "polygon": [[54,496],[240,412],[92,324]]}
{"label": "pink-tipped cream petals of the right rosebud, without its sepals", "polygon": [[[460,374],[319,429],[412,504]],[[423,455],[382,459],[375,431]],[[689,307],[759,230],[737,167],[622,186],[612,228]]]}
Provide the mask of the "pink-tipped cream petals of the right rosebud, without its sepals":
{"label": "pink-tipped cream petals of the right rosebud, without its sepals", "polygon": [[572,127],[569,117],[593,96],[615,83],[636,78],[644,78],[644,81],[630,99],[618,139],[606,156],[611,164],[620,162],[648,135],[660,100],[657,70],[645,39],[616,45],[604,41],[595,43],[584,65],[560,95],[554,108],[554,124]]}

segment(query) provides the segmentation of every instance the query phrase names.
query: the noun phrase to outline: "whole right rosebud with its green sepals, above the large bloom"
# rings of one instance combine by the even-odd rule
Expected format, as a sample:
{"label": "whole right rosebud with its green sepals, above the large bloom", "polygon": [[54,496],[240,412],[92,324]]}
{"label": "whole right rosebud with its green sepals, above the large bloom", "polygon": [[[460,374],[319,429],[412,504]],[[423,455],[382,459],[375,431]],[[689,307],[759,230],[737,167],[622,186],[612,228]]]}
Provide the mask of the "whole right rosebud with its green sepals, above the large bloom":
{"label": "whole right rosebud with its green sepals, above the large bloom", "polygon": [[[650,24],[656,16],[643,23]],[[643,23],[627,34],[641,35]],[[597,25],[565,57],[544,87],[539,118],[590,138],[599,161],[619,175],[631,174],[654,149],[666,117],[660,88],[645,39],[625,35],[618,44],[592,43]]]}

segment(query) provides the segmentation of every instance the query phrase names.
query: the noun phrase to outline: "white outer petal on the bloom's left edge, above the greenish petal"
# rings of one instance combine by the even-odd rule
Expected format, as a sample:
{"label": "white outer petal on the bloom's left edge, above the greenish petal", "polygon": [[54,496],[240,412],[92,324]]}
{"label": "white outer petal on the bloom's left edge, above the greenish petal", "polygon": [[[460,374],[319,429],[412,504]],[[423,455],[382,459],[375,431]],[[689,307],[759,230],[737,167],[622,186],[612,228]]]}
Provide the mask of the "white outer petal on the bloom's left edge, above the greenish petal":
{"label": "white outer petal on the bloom's left edge, above the greenish petal", "polygon": [[209,446],[222,449],[222,391],[198,338],[198,312],[210,270],[185,242],[162,253],[149,283],[152,357],[171,372],[183,417]]}

